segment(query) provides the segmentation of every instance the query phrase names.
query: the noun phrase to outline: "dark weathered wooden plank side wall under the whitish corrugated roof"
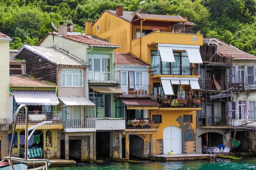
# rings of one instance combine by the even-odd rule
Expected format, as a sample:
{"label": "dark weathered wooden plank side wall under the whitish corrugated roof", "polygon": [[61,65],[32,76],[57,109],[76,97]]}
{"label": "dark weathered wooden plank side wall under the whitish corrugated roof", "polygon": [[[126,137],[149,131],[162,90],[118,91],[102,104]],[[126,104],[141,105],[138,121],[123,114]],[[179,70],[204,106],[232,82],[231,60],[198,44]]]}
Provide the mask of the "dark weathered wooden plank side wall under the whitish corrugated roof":
{"label": "dark weathered wooden plank side wall under the whitish corrugated roof", "polygon": [[[43,80],[56,83],[57,66],[55,64],[25,48],[23,48],[16,58],[26,60],[26,74],[32,75],[35,78],[42,77]],[[41,59],[40,62],[38,62],[39,59]]]}

